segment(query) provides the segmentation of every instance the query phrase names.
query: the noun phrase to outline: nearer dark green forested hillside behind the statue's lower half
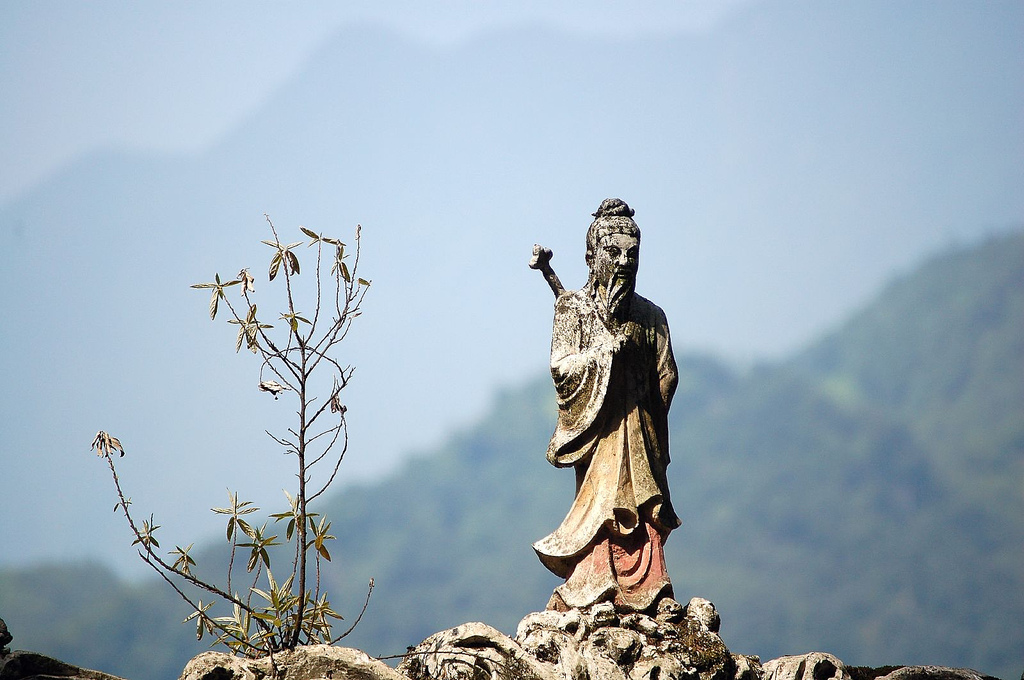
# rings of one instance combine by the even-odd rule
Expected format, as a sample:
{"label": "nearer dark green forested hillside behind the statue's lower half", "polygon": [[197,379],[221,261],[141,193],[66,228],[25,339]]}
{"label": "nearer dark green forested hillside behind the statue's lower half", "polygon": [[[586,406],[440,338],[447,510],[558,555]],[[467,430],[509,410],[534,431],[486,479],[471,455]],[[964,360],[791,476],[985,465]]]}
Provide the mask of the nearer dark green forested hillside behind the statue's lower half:
{"label": "nearer dark green forested hillside behind the statue's lower half", "polygon": [[[713,600],[726,643],[765,658],[822,649],[1018,677],[1024,235],[934,258],[790,360],[737,374],[683,350],[678,599]],[[505,391],[439,450],[331,500],[331,592],[354,615],[377,586],[346,643],[397,653],[464,621],[511,632],[544,606],[556,583],[529,546],[572,495],[571,473],[544,460],[552,402],[546,377]],[[49,585],[71,582],[96,596]],[[176,607],[161,584],[91,567],[0,572],[15,646],[137,680],[173,676],[198,649]],[[81,623],[47,629],[62,621]]]}

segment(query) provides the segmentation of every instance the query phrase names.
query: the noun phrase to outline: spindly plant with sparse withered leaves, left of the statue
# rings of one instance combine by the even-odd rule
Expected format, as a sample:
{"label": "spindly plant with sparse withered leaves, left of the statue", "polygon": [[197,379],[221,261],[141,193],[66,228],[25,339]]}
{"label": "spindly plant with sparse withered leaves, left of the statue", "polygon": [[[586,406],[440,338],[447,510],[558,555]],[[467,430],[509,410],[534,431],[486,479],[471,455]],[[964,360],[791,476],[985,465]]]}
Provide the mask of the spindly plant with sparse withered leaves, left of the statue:
{"label": "spindly plant with sparse withered leaves, left of the statue", "polygon": [[[334,643],[347,635],[358,624],[370,601],[374,583],[370,581],[367,603],[355,622],[341,635],[334,637],[332,623],[342,619],[321,588],[322,562],[331,561],[328,549],[331,522],[326,516],[311,512],[309,505],[328,490],[338,474],[341,462],[348,451],[348,426],[341,392],[352,377],[353,368],[339,363],[335,357],[337,345],[345,337],[360,312],[360,305],[370,282],[358,278],[360,227],[355,227],[354,247],[338,239],[299,227],[308,239],[285,245],[269,216],[273,240],[263,241],[273,249],[268,270],[268,281],[284,282],[286,310],[281,312],[281,328],[266,324],[257,315],[254,301],[255,278],[249,269],[221,282],[220,274],[213,283],[197,284],[193,288],[209,289],[210,318],[214,320],[221,303],[230,313],[228,324],[239,327],[234,349],[242,345],[258,355],[262,362],[259,371],[259,389],[279,395],[288,393],[297,403],[297,423],[285,433],[267,435],[280,444],[286,454],[295,457],[298,487],[294,495],[285,492],[289,507],[269,515],[273,525],[285,522],[285,543],[293,544],[294,551],[289,576],[280,581],[270,569],[273,546],[283,545],[279,536],[271,534],[268,522],[255,523],[250,517],[259,511],[249,501],[239,500],[237,493],[228,492],[229,504],[213,508],[213,512],[227,517],[226,540],[230,543],[230,557],[226,568],[226,584],[222,588],[196,575],[196,561],[186,548],[175,546],[166,557],[157,549],[156,538],[160,526],[153,515],[138,521],[131,511],[131,499],[125,497],[114,463],[114,454],[125,455],[117,437],[100,431],[92,442],[96,454],[104,458],[117,491],[118,503],[138,546],[142,561],[152,566],[193,608],[185,622],[196,621],[196,635],[216,635],[216,643],[226,645],[231,651],[247,656],[272,654],[279,649],[291,649],[300,644]],[[305,244],[315,248],[315,300],[311,314],[303,314],[296,304],[293,283],[300,274],[296,249]],[[328,265],[330,268],[328,269]],[[327,270],[327,272],[325,272]],[[279,277],[279,274],[283,274]],[[241,299],[234,303],[228,298],[227,289],[238,287]],[[318,467],[317,467],[318,466]],[[312,472],[318,471],[316,482]],[[247,554],[246,572],[251,585],[241,595],[232,588],[236,555],[242,550]],[[247,580],[247,583],[250,583]],[[258,586],[261,583],[264,587]],[[206,593],[213,601],[204,602],[198,595]],[[255,600],[255,601],[254,601]],[[214,615],[211,608],[216,602],[227,605],[230,613]]]}

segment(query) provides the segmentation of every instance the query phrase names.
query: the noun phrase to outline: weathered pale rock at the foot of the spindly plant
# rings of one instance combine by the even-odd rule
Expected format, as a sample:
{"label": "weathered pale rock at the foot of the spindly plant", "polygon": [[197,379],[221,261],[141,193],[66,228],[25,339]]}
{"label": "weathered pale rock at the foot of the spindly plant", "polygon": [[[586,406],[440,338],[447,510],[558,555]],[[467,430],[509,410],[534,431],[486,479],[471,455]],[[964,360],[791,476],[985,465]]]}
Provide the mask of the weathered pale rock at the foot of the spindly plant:
{"label": "weathered pale rock at the foot of the spindly plant", "polygon": [[[180,680],[404,680],[394,669],[350,647],[317,644],[280,651],[272,658],[243,658],[206,651],[193,658]],[[98,679],[97,679],[98,680]]]}

